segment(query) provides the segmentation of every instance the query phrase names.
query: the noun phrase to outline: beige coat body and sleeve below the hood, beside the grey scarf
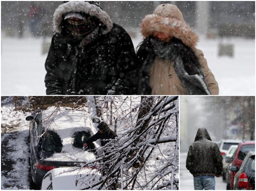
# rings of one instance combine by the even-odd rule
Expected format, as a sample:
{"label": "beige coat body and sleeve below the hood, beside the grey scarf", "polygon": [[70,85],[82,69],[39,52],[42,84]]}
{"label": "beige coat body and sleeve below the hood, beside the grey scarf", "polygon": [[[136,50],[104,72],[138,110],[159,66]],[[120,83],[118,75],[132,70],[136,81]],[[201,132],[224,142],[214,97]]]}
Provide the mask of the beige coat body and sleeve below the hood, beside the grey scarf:
{"label": "beige coat body and sleeve below the hood, beside the grey scarf", "polygon": [[[202,65],[206,82],[212,95],[219,94],[218,83],[207,65],[204,53],[194,49]],[[173,62],[156,57],[150,71],[150,87],[152,95],[187,95],[187,92],[175,72]]]}

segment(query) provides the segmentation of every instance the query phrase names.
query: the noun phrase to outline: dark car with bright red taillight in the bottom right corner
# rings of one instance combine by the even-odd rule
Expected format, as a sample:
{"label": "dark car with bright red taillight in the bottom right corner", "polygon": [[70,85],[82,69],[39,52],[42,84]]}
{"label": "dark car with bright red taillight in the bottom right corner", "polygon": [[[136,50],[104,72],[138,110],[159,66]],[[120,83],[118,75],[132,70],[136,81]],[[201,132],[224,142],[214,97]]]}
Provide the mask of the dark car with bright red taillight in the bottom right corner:
{"label": "dark car with bright red taillight in the bottom right corner", "polygon": [[252,188],[252,185],[249,185],[250,178],[255,177],[255,152],[249,152],[247,154],[239,170],[237,166],[230,166],[229,169],[236,172],[234,190],[250,190]]}

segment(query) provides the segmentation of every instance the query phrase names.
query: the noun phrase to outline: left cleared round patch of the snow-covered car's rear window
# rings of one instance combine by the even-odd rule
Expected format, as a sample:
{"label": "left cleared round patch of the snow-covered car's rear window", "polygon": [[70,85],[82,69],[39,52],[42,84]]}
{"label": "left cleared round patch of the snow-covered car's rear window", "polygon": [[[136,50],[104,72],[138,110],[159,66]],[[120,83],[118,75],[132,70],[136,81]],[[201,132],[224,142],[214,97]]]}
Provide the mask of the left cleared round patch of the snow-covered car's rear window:
{"label": "left cleared round patch of the snow-covered car's rear window", "polygon": [[43,150],[46,152],[60,153],[62,151],[62,141],[59,135],[54,131],[47,131],[44,134],[45,141]]}

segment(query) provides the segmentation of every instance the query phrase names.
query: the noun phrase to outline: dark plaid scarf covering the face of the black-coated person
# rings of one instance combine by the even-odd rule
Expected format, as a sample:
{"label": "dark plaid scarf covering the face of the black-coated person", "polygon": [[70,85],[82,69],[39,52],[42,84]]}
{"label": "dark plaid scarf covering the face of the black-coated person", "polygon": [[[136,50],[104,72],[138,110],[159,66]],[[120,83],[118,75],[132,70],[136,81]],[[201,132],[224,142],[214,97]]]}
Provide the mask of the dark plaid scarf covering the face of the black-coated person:
{"label": "dark plaid scarf covering the face of the black-coated person", "polygon": [[90,34],[98,25],[97,19],[87,16],[84,20],[74,21],[66,19],[67,30],[75,37],[82,38]]}

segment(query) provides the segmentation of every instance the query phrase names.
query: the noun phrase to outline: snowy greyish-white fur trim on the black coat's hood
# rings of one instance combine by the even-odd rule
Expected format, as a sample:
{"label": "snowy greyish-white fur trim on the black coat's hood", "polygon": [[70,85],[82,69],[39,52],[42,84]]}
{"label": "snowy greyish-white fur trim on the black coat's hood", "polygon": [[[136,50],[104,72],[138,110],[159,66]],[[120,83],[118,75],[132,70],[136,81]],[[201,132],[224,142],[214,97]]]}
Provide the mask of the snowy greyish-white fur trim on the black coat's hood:
{"label": "snowy greyish-white fur trim on the black coat's hood", "polygon": [[107,27],[105,30],[106,33],[110,32],[113,28],[113,22],[109,15],[99,6],[90,3],[90,1],[68,1],[60,5],[53,15],[53,26],[58,33],[62,31],[63,15],[72,12],[87,13],[97,17]]}

